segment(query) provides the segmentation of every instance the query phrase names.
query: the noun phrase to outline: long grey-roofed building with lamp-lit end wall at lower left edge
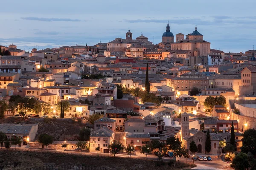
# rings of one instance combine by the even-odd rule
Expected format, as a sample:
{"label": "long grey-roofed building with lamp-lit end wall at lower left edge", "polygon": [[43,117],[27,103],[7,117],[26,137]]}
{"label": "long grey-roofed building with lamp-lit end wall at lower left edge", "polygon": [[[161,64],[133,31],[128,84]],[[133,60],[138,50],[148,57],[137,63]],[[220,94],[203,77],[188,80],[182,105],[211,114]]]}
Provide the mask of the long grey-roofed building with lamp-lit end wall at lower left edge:
{"label": "long grey-roofed building with lamp-lit end wall at lower left edge", "polygon": [[[12,136],[20,137],[21,144],[18,147],[28,147],[28,142],[35,139],[35,135],[38,131],[37,124],[0,124],[0,131],[5,133],[7,139],[11,139]],[[4,144],[1,144],[1,147],[4,147]]]}

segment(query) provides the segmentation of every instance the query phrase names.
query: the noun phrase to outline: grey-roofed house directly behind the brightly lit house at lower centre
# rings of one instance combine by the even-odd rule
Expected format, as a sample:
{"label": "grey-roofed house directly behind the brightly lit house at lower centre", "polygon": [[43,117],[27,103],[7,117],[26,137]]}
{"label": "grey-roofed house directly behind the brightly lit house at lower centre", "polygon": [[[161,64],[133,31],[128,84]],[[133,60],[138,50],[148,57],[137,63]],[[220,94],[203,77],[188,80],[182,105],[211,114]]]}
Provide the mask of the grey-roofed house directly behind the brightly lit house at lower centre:
{"label": "grey-roofed house directly behind the brightly lit house at lower centre", "polygon": [[94,130],[100,129],[103,126],[108,127],[112,131],[116,131],[116,121],[108,117],[102,117],[94,121]]}

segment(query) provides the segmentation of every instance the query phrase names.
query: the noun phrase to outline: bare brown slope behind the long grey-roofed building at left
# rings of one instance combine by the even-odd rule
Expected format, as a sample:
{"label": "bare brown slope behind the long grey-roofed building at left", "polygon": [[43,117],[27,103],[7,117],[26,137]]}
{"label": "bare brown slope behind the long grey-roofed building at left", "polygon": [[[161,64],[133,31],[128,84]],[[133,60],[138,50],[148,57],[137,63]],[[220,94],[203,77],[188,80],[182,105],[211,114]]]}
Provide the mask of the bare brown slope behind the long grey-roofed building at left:
{"label": "bare brown slope behind the long grey-roofed building at left", "polygon": [[[81,120],[81,119],[80,119]],[[6,117],[0,120],[0,123],[26,123],[38,124],[38,133],[47,133],[54,137],[54,140],[76,140],[81,127],[86,126],[86,122],[77,119],[42,119]],[[36,136],[37,138],[37,136]]]}

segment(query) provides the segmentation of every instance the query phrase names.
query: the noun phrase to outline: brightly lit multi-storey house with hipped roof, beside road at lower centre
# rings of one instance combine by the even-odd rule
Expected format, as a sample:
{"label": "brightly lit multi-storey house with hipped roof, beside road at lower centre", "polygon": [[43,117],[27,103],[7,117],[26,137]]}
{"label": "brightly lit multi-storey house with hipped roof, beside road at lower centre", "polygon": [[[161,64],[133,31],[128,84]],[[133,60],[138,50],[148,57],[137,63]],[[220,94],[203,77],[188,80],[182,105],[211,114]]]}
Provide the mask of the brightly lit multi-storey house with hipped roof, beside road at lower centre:
{"label": "brightly lit multi-storey house with hipped roof, beside road at lower centre", "polygon": [[95,148],[100,147],[101,153],[109,153],[108,145],[114,137],[115,133],[105,126],[93,131],[90,135],[90,151],[95,152]]}

